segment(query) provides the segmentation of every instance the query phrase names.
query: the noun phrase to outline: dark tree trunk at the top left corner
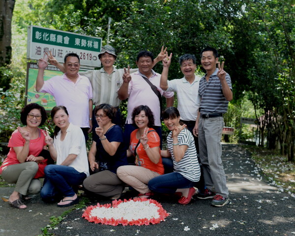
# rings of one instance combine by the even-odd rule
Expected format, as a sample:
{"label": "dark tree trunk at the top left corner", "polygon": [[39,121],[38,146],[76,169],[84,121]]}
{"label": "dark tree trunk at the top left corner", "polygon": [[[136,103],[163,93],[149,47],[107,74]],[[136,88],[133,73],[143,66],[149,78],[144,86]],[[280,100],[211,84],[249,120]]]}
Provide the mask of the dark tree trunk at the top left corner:
{"label": "dark tree trunk at the top left corner", "polygon": [[0,0],[0,66],[11,60],[11,20],[15,0]]}

